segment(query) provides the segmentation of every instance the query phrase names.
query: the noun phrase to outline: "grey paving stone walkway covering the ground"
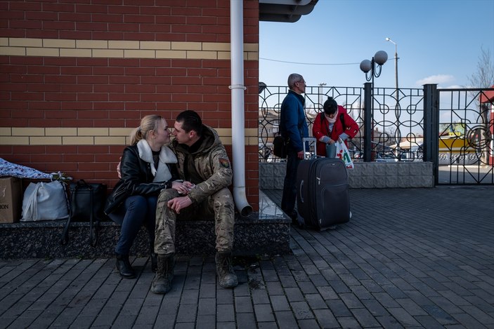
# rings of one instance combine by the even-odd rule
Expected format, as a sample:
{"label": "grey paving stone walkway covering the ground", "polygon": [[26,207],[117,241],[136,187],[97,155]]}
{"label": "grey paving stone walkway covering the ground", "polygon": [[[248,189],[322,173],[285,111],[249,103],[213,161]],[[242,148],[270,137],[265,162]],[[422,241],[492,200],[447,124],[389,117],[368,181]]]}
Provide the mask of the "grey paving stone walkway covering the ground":
{"label": "grey paving stone walkway covering the ground", "polygon": [[351,222],[236,259],[233,290],[214,257],[179,257],[165,296],[148,258],[135,280],[112,259],[0,260],[0,328],[494,328],[494,187],[350,195]]}

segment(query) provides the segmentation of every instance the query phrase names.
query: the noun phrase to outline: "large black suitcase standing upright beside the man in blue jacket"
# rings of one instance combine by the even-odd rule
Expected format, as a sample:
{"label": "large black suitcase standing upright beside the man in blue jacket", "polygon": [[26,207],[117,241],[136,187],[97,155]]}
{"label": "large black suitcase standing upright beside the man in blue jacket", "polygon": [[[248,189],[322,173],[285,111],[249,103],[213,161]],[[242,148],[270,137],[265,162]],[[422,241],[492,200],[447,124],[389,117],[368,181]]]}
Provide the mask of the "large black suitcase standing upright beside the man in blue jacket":
{"label": "large black suitcase standing upright beside the man in blue jacket", "polygon": [[301,227],[318,231],[350,220],[349,182],[342,160],[316,158],[299,163],[297,210]]}

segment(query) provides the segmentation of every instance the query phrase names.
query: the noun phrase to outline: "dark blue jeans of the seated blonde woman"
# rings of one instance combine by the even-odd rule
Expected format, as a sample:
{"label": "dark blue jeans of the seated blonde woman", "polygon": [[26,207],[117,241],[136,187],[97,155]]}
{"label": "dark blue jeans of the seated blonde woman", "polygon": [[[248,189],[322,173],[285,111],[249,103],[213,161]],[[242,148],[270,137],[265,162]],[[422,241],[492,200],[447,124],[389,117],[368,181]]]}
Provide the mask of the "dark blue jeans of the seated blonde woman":
{"label": "dark blue jeans of the seated blonde woman", "polygon": [[122,225],[115,253],[129,255],[132,243],[142,225],[148,229],[150,250],[153,251],[157,199],[157,196],[129,196],[117,210],[108,215],[113,222]]}

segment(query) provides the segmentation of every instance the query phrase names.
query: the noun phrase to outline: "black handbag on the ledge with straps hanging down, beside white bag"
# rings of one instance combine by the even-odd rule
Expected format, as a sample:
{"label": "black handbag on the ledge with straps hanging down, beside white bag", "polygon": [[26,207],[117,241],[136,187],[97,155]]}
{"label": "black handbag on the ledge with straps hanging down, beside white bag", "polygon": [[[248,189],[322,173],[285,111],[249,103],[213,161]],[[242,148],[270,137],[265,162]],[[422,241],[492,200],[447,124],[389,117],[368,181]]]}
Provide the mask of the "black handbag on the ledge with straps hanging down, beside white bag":
{"label": "black handbag on the ledge with straps hanging down, beside white bag", "polygon": [[70,183],[70,215],[60,240],[62,245],[65,246],[69,241],[70,222],[89,221],[89,243],[96,247],[99,223],[106,219],[106,215],[103,213],[106,190],[106,184],[87,183],[84,180]]}

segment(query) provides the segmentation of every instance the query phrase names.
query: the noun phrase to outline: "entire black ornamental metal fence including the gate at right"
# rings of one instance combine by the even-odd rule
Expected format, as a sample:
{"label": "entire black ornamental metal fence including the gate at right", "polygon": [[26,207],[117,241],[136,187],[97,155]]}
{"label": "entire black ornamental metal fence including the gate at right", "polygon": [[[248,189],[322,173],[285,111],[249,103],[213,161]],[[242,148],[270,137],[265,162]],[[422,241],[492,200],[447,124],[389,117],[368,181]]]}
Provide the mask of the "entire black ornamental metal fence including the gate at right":
{"label": "entire black ornamental metal fence including the gate at right", "polygon": [[[261,162],[282,161],[273,155],[273,137],[287,92],[282,86],[259,88]],[[362,88],[307,86],[310,135],[328,96],[360,127],[349,141],[353,161],[431,161],[436,184],[494,184],[494,89],[372,88],[372,83]],[[443,166],[450,169],[448,174]],[[475,173],[472,166],[477,167]]]}

